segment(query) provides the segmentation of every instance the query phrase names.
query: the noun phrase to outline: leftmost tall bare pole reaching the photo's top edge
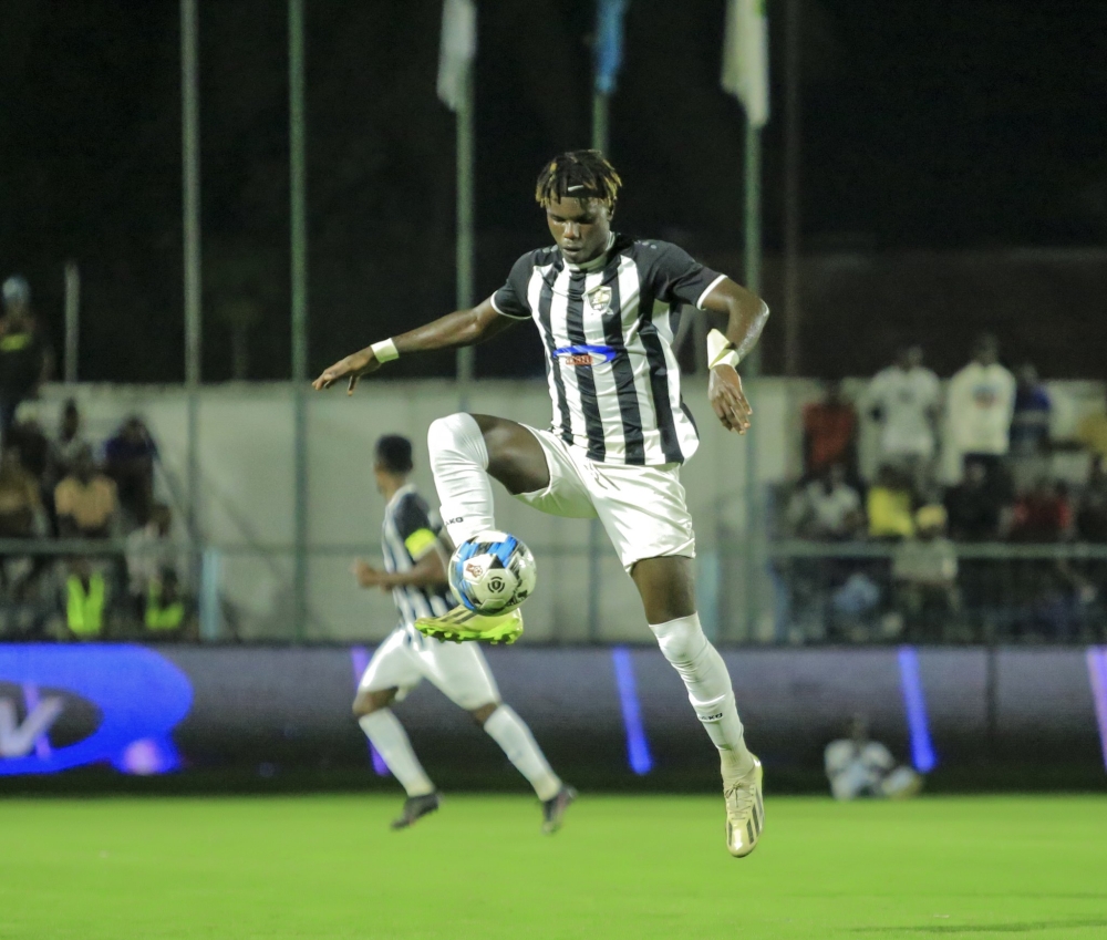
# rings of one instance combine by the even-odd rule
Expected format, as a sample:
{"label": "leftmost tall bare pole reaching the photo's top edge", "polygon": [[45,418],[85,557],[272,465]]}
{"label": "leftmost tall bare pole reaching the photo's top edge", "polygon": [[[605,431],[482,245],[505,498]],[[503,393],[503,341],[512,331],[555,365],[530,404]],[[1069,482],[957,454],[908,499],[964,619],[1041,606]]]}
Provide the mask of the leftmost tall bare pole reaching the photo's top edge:
{"label": "leftmost tall bare pole reaching the photo's top edge", "polygon": [[196,0],[180,0],[182,164],[185,238],[185,388],[188,391],[186,477],[188,533],[199,537],[199,385],[201,338],[200,110]]}

